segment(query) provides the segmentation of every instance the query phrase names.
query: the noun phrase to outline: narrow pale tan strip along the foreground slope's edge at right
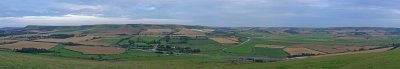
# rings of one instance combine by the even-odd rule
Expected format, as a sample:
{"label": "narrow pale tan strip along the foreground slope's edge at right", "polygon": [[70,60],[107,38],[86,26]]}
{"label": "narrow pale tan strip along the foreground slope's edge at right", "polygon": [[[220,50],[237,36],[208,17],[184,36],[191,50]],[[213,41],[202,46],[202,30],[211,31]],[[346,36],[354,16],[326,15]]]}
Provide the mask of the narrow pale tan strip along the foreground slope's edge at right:
{"label": "narrow pale tan strip along the foreground slope's edge at right", "polygon": [[318,57],[327,57],[327,56],[338,56],[338,55],[350,55],[350,54],[360,54],[360,53],[374,53],[374,52],[384,52],[392,49],[394,47],[382,48],[382,49],[374,49],[374,50],[367,50],[367,51],[357,51],[357,52],[347,52],[347,53],[338,53],[338,54],[327,54],[327,55],[319,55],[319,56],[311,56],[311,58],[318,58]]}

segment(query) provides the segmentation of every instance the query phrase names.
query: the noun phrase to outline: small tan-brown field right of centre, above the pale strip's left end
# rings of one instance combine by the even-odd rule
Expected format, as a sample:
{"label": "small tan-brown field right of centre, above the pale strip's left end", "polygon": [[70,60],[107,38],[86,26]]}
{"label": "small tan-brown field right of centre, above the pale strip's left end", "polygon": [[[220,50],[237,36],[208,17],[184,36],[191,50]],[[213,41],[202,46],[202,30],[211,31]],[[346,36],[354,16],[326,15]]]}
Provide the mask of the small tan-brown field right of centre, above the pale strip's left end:
{"label": "small tan-brown field right of centre, above the pale strip's left end", "polygon": [[290,55],[302,55],[302,54],[322,55],[322,54],[326,54],[323,52],[319,52],[319,51],[315,51],[315,50],[311,50],[311,49],[307,49],[307,48],[285,48],[283,50],[286,51],[287,53],[289,53]]}

